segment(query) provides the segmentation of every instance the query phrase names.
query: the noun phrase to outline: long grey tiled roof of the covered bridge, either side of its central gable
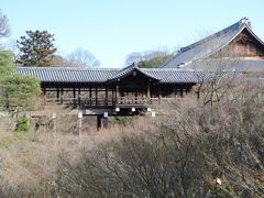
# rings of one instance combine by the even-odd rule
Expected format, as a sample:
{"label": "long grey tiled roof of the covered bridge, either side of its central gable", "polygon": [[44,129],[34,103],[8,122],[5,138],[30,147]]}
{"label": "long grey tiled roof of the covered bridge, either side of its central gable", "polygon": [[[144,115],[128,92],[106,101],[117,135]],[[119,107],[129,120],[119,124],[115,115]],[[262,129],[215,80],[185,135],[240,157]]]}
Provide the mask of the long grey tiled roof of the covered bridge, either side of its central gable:
{"label": "long grey tiled roof of the covered bridge, either side of its central gable", "polygon": [[[128,68],[127,68],[128,69]],[[179,69],[146,69],[138,68],[150,78],[161,82],[198,82],[200,76],[209,74],[200,72],[183,72]],[[121,77],[127,73],[123,69],[94,69],[94,68],[68,68],[68,67],[18,67],[18,73],[35,76],[43,82],[107,82]],[[121,75],[122,74],[122,75]]]}

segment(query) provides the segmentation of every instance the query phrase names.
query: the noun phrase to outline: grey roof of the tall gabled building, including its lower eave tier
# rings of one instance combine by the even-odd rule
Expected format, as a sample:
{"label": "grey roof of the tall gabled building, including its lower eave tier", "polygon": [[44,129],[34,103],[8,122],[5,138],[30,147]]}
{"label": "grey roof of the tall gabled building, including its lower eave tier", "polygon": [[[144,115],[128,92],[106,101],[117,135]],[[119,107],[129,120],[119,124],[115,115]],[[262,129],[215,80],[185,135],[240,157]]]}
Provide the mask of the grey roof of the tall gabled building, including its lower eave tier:
{"label": "grey roof of the tall gabled building, including its lower eave tier", "polygon": [[[243,18],[239,22],[232,24],[231,26],[228,26],[227,29],[221,30],[220,32],[217,32],[216,34],[212,34],[201,41],[198,41],[191,45],[180,48],[180,51],[175,56],[175,58],[162,65],[161,68],[189,69],[189,68],[194,68],[195,66],[196,70],[205,70],[205,65],[208,64],[208,61],[205,61],[206,63],[204,63],[204,59],[210,57],[215,53],[228,46],[244,30],[246,30],[258,42],[262,48],[264,48],[263,41],[261,41],[253,33],[249,19]],[[213,62],[213,59],[211,59],[210,62]],[[249,59],[245,62],[243,59],[240,59],[239,62],[235,61],[235,62],[243,65],[243,67],[239,68],[240,72],[258,69],[260,64],[263,63],[263,62],[254,62],[254,61],[250,63],[251,61]],[[231,63],[234,63],[234,62],[231,59],[231,61],[228,61],[227,63],[231,65]],[[257,68],[255,68],[254,66],[256,66]],[[264,68],[264,65],[262,65],[262,69],[263,68]],[[233,67],[229,70],[232,70],[232,69]]]}

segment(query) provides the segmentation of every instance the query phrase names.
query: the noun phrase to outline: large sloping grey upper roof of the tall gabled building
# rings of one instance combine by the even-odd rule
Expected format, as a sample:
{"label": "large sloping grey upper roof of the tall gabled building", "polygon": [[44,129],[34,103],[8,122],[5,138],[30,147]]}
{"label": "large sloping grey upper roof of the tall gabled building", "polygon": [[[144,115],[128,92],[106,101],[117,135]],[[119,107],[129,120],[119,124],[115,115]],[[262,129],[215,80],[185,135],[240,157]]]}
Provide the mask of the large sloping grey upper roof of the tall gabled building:
{"label": "large sloping grey upper roof of the tall gabled building", "polygon": [[264,43],[252,32],[249,19],[243,18],[231,26],[223,29],[199,42],[180,48],[179,53],[162,68],[180,68],[193,62],[209,57],[230,44],[243,30],[248,30],[264,47]]}

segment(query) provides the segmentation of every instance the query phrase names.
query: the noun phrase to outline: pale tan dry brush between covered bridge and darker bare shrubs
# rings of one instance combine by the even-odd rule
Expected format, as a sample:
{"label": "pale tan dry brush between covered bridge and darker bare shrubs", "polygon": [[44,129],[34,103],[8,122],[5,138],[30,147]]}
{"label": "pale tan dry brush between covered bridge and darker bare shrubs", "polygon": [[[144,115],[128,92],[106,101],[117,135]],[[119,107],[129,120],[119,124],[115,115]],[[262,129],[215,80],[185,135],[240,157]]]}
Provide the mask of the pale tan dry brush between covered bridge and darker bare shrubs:
{"label": "pale tan dry brush between covered bridge and darker bare shrubs", "polygon": [[[76,116],[58,113],[56,128],[54,128],[51,117],[45,118],[37,131],[35,131],[35,123],[40,120],[35,119],[32,121],[26,139],[20,139],[11,133],[14,129],[14,122],[12,119],[4,118],[4,121],[1,120],[0,123],[0,196],[1,191],[4,193],[2,195],[6,197],[7,195],[11,197],[14,195],[21,197],[54,196],[56,194],[54,184],[59,176],[58,167],[62,153],[67,154],[70,165],[78,164],[84,156],[84,151],[91,151],[100,144],[119,142],[124,136],[133,138],[143,134],[141,136],[144,139],[152,139],[152,136],[157,135],[157,131],[162,134],[164,128],[160,128],[161,125],[165,125],[166,130],[172,129],[176,132],[187,130],[188,135],[193,134],[194,136],[198,133],[205,133],[208,140],[210,133],[217,134],[216,132],[219,130],[221,134],[226,135],[220,136],[223,139],[223,144],[232,130],[240,130],[243,132],[242,134],[248,134],[254,124],[256,129],[262,130],[263,101],[254,103],[251,99],[254,99],[254,96],[263,89],[261,89],[262,87],[257,89],[254,87],[255,90],[252,87],[245,88],[238,86],[235,94],[245,96],[244,91],[246,90],[249,101],[241,102],[237,98],[234,102],[221,101],[219,106],[210,108],[204,107],[202,102],[197,101],[195,95],[189,95],[184,99],[168,100],[160,106],[153,106],[152,109],[156,112],[156,118],[152,118],[150,114],[134,117],[129,124],[111,123],[109,129],[99,132],[96,130],[95,120],[87,117],[84,118],[81,135],[78,134]],[[251,111],[246,109],[245,105],[249,105]],[[249,112],[253,114],[246,114]],[[242,119],[244,125],[240,125],[240,114],[244,119]],[[254,124],[251,123],[250,118],[255,118]],[[147,135],[144,135],[145,133]],[[208,146],[210,147],[210,145]],[[221,145],[219,147],[221,148]],[[227,173],[232,173],[232,169],[228,169]],[[239,170],[238,173],[240,174]],[[50,190],[55,191],[50,193]]]}

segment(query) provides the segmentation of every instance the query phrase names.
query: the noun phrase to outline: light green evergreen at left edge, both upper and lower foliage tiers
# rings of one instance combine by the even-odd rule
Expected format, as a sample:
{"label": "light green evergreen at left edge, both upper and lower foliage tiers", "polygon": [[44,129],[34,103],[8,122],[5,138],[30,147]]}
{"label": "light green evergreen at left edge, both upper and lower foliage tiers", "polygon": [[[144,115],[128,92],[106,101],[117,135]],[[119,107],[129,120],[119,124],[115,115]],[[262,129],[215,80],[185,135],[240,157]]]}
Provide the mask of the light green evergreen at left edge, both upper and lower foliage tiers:
{"label": "light green evergreen at left edge, both upper and lower foliage tiers", "polygon": [[33,110],[41,84],[31,76],[15,73],[13,54],[0,51],[0,110]]}

